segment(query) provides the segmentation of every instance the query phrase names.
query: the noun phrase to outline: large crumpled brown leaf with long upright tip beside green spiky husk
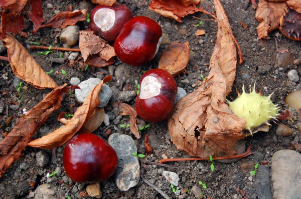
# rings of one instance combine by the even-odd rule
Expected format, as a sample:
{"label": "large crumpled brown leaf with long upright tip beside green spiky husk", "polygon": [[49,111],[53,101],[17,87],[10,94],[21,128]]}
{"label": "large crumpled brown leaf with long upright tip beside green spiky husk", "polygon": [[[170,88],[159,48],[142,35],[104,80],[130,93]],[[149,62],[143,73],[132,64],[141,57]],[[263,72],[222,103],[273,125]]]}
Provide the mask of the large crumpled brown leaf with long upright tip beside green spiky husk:
{"label": "large crumpled brown leaf with long upright tip beside green spiky husk", "polygon": [[203,158],[234,155],[246,124],[224,103],[235,78],[236,47],[224,8],[219,0],[214,0],[214,6],[219,22],[209,76],[178,101],[168,120],[171,140],[177,147]]}

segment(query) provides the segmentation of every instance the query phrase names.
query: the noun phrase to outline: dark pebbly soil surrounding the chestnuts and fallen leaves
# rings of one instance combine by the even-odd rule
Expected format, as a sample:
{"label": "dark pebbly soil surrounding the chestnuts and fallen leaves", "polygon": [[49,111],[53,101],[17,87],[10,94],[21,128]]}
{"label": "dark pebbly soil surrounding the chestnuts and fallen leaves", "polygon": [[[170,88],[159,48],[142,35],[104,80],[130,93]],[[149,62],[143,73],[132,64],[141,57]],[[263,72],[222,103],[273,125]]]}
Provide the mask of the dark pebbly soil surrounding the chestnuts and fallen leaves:
{"label": "dark pebbly soil surrounding the chestnuts and fallen leaves", "polygon": [[[301,184],[301,154],[295,151],[295,146],[297,146],[295,144],[301,142],[300,124],[298,126],[301,119],[293,108],[288,108],[284,104],[284,98],[288,93],[301,88],[299,80],[301,66],[298,63],[298,60],[301,59],[300,42],[286,38],[279,30],[270,33],[268,40],[258,40],[256,26],[259,22],[254,18],[255,11],[251,6],[244,9],[243,0],[221,1],[232,25],[233,34],[244,54],[244,62],[237,66],[233,92],[230,93],[229,99],[237,97],[235,89],[241,92],[243,84],[249,88],[256,82],[257,91],[261,89],[263,95],[274,92],[272,100],[279,104],[282,110],[289,109],[292,114],[291,119],[280,120],[277,124],[272,123],[269,132],[257,132],[253,136],[246,137],[238,147],[245,150],[246,146],[251,145],[254,154],[236,162],[214,161],[213,171],[210,169],[210,161],[171,162],[168,164],[172,167],[168,168],[141,163],[135,156],[128,155],[129,167],[134,177],[130,178],[125,175],[127,177],[117,185],[119,188],[126,186],[124,189],[130,186],[127,182],[137,183],[137,185],[126,191],[120,190],[114,183],[114,179],[111,178],[100,183],[102,198],[164,198],[146,182],[154,184],[170,198],[272,198],[272,195],[276,199],[301,198],[301,189],[297,187],[298,184]],[[203,18],[200,28],[206,32],[203,36],[195,36],[196,27],[193,25],[198,24],[199,19],[187,16],[182,23],[179,23],[165,18],[148,9],[150,0],[119,0],[119,2],[126,4],[134,15],[145,15],[158,21],[167,35],[159,53],[149,63],[141,67],[132,67],[116,61],[115,64],[108,67],[89,66],[85,70],[84,66],[80,64],[75,64],[73,67],[68,65],[70,60],[81,56],[79,53],[63,52],[65,58],[58,62],[57,58],[60,52],[48,55],[35,55],[39,52],[35,50],[29,52],[45,71],[54,70],[50,76],[58,85],[65,82],[69,85],[78,84],[91,77],[102,79],[105,75],[113,75],[113,80],[107,86],[107,89],[110,90],[108,95],[112,94],[110,98],[106,99],[108,100],[108,104],[105,106],[107,116],[94,133],[105,139],[108,139],[105,134],[108,129],[111,129],[111,133],[124,133],[125,135],[114,134],[115,141],[118,139],[120,141],[128,140],[124,141],[124,144],[121,142],[122,144],[119,144],[118,147],[115,146],[117,153],[118,151],[119,154],[124,152],[125,148],[131,148],[132,150],[136,149],[137,153],[144,154],[143,140],[147,131],[153,153],[144,157],[144,160],[156,162],[166,157],[189,157],[186,152],[179,151],[171,143],[166,120],[156,124],[142,122],[140,124],[142,127],[146,124],[149,124],[149,127],[147,130],[142,130],[142,137],[137,140],[130,133],[128,127],[120,126],[120,124],[128,124],[128,117],[119,115],[118,108],[113,108],[112,104],[121,100],[133,106],[142,70],[156,68],[163,50],[170,42],[189,42],[191,59],[187,66],[187,73],[181,73],[175,79],[178,86],[187,93],[193,92],[202,83],[200,75],[205,77],[208,75],[209,59],[216,41],[216,23],[205,20],[209,18],[205,14],[195,13],[195,16]],[[90,10],[93,7],[89,1],[44,0],[45,21],[58,12],[66,11],[69,5],[72,5],[73,9]],[[207,0],[203,7],[213,8],[212,2]],[[244,29],[240,21],[245,23],[248,28]],[[71,30],[78,33],[79,29],[86,29],[87,25],[86,21],[80,22],[79,28]],[[68,47],[57,38],[60,30],[41,28],[32,35],[31,28],[32,23],[26,21],[25,30],[29,37],[16,37],[28,50],[32,45],[31,42],[52,44],[58,41],[55,46]],[[72,32],[71,30],[70,32]],[[70,47],[78,48],[78,43]],[[288,50],[283,51],[281,47]],[[0,47],[0,49],[3,48]],[[5,50],[1,51],[1,55],[7,55]],[[24,111],[35,106],[51,89],[38,90],[23,82],[20,93],[24,94],[24,97],[20,102],[16,85],[20,85],[22,80],[15,77],[8,62],[1,61],[0,63],[0,115],[3,119],[1,122],[14,115],[9,124],[9,127],[13,128]],[[66,71],[66,76],[61,74],[62,69]],[[182,94],[185,94],[183,89],[181,89]],[[298,97],[293,100],[300,103]],[[13,102],[17,102],[18,105]],[[41,137],[60,127],[62,124],[57,121],[59,113],[66,111],[72,114],[78,106],[80,106],[80,102],[73,94],[65,94],[62,106],[52,114],[34,138]],[[276,128],[280,123],[288,127],[285,128],[281,124],[280,127],[284,130],[278,129],[276,133]],[[110,142],[115,143],[114,140]],[[99,194],[97,184],[76,183],[66,175],[62,164],[63,149],[64,146],[58,147],[56,151],[27,147],[22,156],[0,178],[1,198],[91,198],[93,194],[97,196]],[[55,153],[56,155],[54,155]],[[56,158],[54,159],[54,157]],[[255,169],[256,163],[259,165]],[[49,176],[49,174],[51,175]],[[199,181],[205,183],[206,186],[200,184]]]}

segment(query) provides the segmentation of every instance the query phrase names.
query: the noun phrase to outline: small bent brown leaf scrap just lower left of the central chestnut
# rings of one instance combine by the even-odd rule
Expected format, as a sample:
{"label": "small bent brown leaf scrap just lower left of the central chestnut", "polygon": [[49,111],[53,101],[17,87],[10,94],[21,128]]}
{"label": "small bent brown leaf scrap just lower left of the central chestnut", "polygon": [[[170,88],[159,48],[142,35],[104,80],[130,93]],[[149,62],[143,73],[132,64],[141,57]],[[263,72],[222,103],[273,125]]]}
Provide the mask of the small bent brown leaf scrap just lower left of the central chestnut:
{"label": "small bent brown leaf scrap just lower left of the central chestnut", "polygon": [[135,135],[137,139],[140,138],[139,128],[137,123],[140,123],[139,119],[137,118],[137,112],[134,108],[126,103],[119,103],[118,108],[120,110],[120,115],[129,115],[129,129]]}

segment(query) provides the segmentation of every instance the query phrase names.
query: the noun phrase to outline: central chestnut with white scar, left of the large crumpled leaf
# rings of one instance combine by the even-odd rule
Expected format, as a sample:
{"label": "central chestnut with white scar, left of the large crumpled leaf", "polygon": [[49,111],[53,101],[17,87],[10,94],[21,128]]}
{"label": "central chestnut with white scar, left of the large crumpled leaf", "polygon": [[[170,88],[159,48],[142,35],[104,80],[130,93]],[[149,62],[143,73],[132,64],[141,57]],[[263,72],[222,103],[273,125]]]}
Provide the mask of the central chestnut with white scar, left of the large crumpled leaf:
{"label": "central chestnut with white scar, left of the large crumpled leaf", "polygon": [[160,68],[146,71],[135,102],[138,115],[151,122],[166,119],[173,109],[177,91],[177,83],[168,71]]}

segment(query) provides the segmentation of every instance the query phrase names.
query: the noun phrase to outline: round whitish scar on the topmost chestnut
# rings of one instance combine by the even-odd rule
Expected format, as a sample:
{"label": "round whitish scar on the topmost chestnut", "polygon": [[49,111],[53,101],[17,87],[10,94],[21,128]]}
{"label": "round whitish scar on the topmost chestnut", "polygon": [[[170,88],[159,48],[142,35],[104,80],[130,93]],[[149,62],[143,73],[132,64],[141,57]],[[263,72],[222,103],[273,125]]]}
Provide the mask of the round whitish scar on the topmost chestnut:
{"label": "round whitish scar on the topmost chestnut", "polygon": [[109,8],[101,8],[94,15],[95,24],[102,30],[111,29],[115,23],[115,11]]}

